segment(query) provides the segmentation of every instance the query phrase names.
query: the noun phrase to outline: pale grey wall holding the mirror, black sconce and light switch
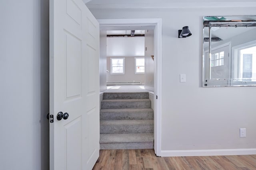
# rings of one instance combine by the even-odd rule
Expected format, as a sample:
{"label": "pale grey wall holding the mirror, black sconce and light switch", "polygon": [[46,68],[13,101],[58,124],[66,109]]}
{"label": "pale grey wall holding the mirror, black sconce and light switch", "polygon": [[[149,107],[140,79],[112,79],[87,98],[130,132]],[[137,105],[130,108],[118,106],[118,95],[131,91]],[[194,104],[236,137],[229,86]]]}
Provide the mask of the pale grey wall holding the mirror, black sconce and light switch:
{"label": "pale grey wall holding the mirror, black sconce and light switch", "polygon": [[[91,11],[97,19],[162,18],[162,150],[256,148],[256,88],[202,88],[202,17],[253,15],[255,7]],[[187,25],[192,36],[178,38]]]}

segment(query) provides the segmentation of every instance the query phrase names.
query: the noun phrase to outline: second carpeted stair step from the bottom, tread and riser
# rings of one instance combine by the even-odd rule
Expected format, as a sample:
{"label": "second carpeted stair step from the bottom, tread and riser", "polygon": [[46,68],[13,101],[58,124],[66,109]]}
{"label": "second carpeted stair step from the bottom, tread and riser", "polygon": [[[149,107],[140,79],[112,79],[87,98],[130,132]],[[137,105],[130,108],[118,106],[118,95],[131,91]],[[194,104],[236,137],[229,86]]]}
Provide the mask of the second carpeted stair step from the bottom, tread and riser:
{"label": "second carpeted stair step from the bottom, tread and riser", "polygon": [[101,120],[100,134],[154,133],[154,120]]}

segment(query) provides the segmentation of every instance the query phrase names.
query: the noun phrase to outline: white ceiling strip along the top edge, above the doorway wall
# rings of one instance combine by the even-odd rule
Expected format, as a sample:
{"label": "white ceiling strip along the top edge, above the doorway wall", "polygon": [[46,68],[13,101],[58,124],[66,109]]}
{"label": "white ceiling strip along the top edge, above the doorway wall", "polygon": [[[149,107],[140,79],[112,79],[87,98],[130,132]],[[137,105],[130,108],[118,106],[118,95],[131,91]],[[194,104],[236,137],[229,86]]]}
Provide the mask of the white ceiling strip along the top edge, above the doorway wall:
{"label": "white ceiling strip along the top edge, above the doorway wall", "polygon": [[[89,2],[87,2],[89,1]],[[252,7],[256,0],[84,0],[88,8]]]}

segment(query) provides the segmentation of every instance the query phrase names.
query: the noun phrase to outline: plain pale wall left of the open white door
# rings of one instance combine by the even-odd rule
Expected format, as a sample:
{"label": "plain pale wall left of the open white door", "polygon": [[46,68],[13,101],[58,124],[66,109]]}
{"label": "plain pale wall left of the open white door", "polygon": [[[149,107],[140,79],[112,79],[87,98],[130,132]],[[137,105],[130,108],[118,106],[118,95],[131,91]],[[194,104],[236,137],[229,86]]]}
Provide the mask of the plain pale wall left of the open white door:
{"label": "plain pale wall left of the open white door", "polygon": [[49,1],[0,2],[0,169],[49,169]]}

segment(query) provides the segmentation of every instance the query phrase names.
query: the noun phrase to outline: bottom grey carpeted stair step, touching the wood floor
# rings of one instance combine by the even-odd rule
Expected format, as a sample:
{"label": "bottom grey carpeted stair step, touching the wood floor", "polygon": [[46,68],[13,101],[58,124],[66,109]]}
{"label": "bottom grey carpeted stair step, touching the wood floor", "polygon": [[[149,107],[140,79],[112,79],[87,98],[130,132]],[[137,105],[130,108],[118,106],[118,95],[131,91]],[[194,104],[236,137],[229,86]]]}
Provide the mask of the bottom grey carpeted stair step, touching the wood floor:
{"label": "bottom grey carpeted stair step, touching the wood floor", "polygon": [[153,149],[154,133],[100,134],[100,149]]}

